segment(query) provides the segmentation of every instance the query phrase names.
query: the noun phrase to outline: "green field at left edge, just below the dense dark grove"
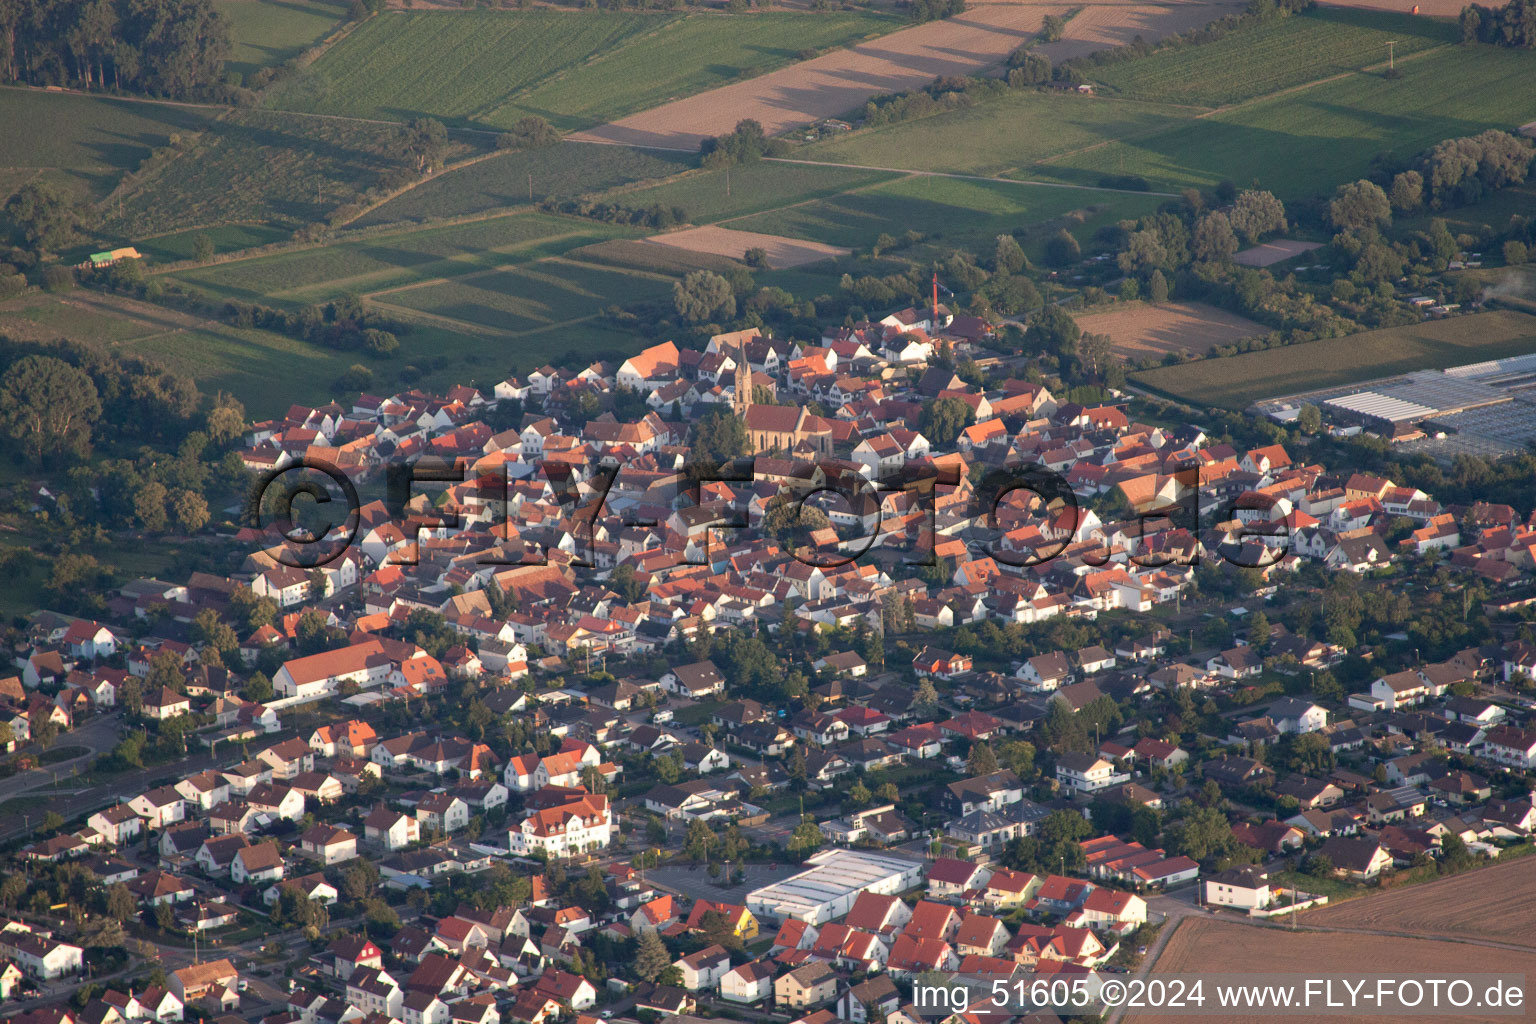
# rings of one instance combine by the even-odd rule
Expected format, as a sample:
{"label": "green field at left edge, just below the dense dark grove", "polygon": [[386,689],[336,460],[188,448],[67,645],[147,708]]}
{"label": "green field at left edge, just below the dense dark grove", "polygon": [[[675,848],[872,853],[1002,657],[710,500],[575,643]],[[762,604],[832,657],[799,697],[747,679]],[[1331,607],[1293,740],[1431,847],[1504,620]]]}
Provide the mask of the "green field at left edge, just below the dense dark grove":
{"label": "green field at left edge, just below the dense dark grove", "polygon": [[0,89],[0,189],[41,172],[100,198],[172,135],[207,127],[209,111],[29,89]]}

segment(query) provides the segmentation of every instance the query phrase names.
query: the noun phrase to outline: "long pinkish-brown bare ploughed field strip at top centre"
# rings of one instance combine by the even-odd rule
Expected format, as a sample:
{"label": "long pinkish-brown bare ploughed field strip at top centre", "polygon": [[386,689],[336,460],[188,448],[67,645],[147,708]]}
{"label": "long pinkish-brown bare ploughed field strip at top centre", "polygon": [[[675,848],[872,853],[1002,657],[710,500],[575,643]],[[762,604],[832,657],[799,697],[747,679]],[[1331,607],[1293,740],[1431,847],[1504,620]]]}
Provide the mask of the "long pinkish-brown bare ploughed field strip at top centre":
{"label": "long pinkish-brown bare ploughed field strip at top centre", "polygon": [[[1066,15],[1075,6],[1081,5],[974,5],[952,18],[917,25],[748,81],[676,100],[571,138],[694,150],[700,140],[730,132],[742,118],[753,118],[770,135],[779,135],[857,111],[872,95],[914,89],[940,75],[992,71],[1034,38],[1044,15]],[[1068,21],[1063,38],[1041,49],[1052,60],[1064,60],[1127,43],[1137,35],[1158,38],[1181,32],[1240,8],[1235,0],[1089,0]]]}

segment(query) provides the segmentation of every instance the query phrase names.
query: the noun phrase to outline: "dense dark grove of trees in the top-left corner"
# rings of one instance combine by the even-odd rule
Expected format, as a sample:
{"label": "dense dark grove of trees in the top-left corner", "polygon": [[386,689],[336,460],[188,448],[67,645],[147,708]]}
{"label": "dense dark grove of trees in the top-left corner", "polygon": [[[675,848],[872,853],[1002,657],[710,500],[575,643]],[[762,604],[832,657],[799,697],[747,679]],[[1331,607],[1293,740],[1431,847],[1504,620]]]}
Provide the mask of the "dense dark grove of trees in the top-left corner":
{"label": "dense dark grove of trees in the top-left corner", "polygon": [[230,54],[212,0],[0,0],[0,80],[215,94]]}

